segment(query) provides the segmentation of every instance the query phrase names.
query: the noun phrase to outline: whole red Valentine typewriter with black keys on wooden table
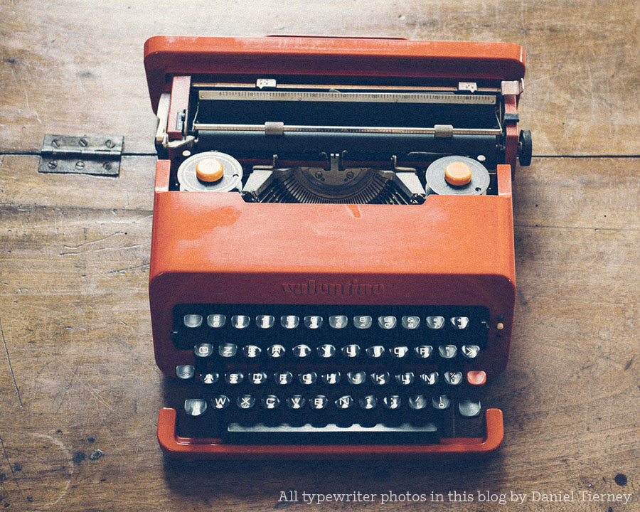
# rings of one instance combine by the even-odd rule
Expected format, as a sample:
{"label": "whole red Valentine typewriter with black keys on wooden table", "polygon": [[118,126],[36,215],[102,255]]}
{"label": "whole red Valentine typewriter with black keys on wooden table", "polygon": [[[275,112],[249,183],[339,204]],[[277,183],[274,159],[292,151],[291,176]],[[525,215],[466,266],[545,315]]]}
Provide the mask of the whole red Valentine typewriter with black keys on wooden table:
{"label": "whole red Valentine typewriter with black keys on wooden table", "polygon": [[164,452],[497,449],[523,49],[155,37],[145,66]]}

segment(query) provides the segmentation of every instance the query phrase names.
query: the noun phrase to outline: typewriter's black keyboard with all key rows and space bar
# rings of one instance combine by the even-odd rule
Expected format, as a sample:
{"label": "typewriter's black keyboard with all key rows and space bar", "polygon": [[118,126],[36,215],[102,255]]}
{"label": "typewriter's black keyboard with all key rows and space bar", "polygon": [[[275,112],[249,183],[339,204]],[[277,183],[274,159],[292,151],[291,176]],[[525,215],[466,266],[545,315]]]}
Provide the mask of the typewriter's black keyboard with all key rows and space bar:
{"label": "typewriter's black keyboard with all key rows and space bar", "polygon": [[181,437],[430,444],[484,435],[481,306],[180,305]]}

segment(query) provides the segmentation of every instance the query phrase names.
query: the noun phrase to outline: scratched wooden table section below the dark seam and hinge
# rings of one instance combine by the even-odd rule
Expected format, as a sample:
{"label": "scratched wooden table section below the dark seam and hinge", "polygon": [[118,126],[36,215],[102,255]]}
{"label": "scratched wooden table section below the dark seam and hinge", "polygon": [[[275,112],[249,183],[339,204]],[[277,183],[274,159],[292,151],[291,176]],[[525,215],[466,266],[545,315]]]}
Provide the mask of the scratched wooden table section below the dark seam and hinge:
{"label": "scratched wooden table section below the dark seam and hinge", "polygon": [[[491,387],[506,441],[489,461],[444,464],[164,459],[155,427],[168,389],[154,366],[146,302],[154,159],[126,157],[120,178],[43,175],[37,162],[6,155],[0,166],[9,353],[0,370],[0,503],[8,510],[265,510],[282,508],[288,489],[635,493],[627,506],[610,505],[637,510],[640,159],[537,159],[520,170],[517,321],[508,369]],[[340,508],[425,510],[379,499]],[[498,509],[507,508],[457,506]]]}

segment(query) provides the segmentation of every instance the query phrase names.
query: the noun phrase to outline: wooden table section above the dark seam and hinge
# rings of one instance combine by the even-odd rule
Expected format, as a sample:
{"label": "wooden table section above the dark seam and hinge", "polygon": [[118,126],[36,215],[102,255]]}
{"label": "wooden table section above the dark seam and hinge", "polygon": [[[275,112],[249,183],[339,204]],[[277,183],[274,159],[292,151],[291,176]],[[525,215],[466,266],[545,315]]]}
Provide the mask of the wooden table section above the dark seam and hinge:
{"label": "wooden table section above the dark seam and hinge", "polygon": [[2,152],[37,151],[44,134],[87,133],[122,134],[125,151],[153,153],[142,67],[149,36],[335,33],[521,43],[521,119],[535,154],[640,154],[636,1],[329,0],[309,9],[275,0],[87,0],[54,9],[28,0],[3,1],[0,19]]}

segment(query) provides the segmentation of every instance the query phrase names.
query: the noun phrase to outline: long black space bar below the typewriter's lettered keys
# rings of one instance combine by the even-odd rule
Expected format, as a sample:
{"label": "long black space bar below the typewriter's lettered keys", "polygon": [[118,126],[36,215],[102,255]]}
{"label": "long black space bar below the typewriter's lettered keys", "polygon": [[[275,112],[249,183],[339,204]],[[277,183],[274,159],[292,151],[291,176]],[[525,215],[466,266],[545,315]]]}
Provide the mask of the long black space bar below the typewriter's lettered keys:
{"label": "long black space bar below the typewriter's lettered keys", "polygon": [[230,423],[225,437],[226,442],[241,444],[431,444],[439,439],[435,423],[402,423],[393,427],[382,423],[371,427],[358,423],[350,427],[334,423],[324,427],[309,423],[301,426]]}

